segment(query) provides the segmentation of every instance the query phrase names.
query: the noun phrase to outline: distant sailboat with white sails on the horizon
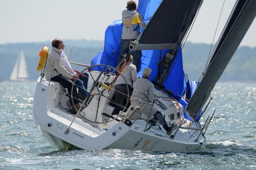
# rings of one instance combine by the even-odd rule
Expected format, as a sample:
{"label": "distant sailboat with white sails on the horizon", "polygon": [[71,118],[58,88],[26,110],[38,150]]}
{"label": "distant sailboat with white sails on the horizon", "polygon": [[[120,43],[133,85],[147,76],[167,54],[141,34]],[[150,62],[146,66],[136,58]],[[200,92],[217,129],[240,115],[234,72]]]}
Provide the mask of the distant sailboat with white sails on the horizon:
{"label": "distant sailboat with white sails on the horizon", "polygon": [[10,76],[10,81],[28,81],[28,71],[23,50],[20,50],[20,53],[15,61],[15,65]]}

